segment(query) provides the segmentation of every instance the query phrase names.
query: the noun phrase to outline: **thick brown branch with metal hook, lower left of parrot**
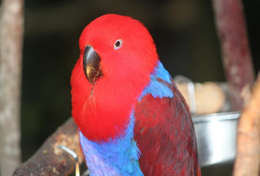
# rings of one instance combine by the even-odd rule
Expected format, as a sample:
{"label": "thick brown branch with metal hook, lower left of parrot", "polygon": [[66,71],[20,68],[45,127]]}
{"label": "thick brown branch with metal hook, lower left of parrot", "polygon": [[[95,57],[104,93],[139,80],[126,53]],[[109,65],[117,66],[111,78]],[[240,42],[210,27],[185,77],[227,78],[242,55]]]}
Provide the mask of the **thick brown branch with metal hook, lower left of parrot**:
{"label": "thick brown branch with metal hook, lower left of parrot", "polygon": [[29,160],[16,169],[13,175],[69,175],[75,168],[75,160],[57,148],[59,145],[64,145],[77,153],[79,162],[82,163],[79,135],[72,118],[59,127]]}

